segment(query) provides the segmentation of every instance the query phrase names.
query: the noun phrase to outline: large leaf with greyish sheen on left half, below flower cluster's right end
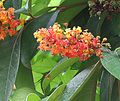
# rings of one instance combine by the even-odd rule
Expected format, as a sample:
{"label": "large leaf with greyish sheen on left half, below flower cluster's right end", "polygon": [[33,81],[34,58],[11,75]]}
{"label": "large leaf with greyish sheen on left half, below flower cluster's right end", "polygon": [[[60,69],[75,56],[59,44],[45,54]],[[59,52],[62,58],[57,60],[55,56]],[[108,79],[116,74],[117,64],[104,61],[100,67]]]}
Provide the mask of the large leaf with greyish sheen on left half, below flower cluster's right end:
{"label": "large leaf with greyish sheen on left half, below flower cluster's right end", "polygon": [[100,62],[76,75],[65,88],[63,94],[55,101],[94,101],[96,82],[101,69]]}

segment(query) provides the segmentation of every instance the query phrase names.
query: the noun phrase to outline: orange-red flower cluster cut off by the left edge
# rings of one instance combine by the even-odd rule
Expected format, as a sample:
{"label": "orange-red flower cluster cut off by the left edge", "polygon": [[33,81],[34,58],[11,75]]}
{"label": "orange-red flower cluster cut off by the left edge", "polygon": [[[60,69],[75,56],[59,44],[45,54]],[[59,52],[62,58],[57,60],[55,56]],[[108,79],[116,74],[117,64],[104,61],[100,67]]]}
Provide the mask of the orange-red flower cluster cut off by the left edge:
{"label": "orange-red flower cluster cut off by the left edge", "polygon": [[21,20],[15,20],[14,8],[5,9],[3,2],[0,2],[0,40],[7,35],[13,36],[17,33],[16,28],[21,24]]}

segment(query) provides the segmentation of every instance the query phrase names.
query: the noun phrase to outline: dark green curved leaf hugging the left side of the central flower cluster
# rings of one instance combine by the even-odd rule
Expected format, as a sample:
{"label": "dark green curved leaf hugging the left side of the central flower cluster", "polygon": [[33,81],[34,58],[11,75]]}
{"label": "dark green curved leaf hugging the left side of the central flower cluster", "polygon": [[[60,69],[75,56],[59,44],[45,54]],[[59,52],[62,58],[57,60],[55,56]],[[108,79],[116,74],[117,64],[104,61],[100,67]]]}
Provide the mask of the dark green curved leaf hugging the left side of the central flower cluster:
{"label": "dark green curved leaf hugging the left side of the central flower cluster", "polygon": [[41,27],[49,27],[56,21],[59,11],[49,12],[30,21],[24,28],[21,43],[21,61],[25,67],[30,67],[30,60],[37,51],[36,39],[33,33]]}

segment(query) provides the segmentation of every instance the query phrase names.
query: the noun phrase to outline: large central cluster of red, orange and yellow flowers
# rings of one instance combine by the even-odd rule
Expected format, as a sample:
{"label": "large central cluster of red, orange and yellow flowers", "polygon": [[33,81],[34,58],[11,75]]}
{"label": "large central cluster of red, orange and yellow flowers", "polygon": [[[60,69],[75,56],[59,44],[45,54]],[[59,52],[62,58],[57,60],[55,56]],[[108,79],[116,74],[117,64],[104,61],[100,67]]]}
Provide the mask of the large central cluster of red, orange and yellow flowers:
{"label": "large central cluster of red, orange and yellow flowers", "polygon": [[85,61],[94,54],[102,57],[99,36],[94,37],[87,30],[82,31],[81,27],[63,30],[58,23],[55,23],[48,29],[41,28],[36,31],[34,37],[40,43],[38,49],[50,51],[53,55],[79,57],[80,61]]}

